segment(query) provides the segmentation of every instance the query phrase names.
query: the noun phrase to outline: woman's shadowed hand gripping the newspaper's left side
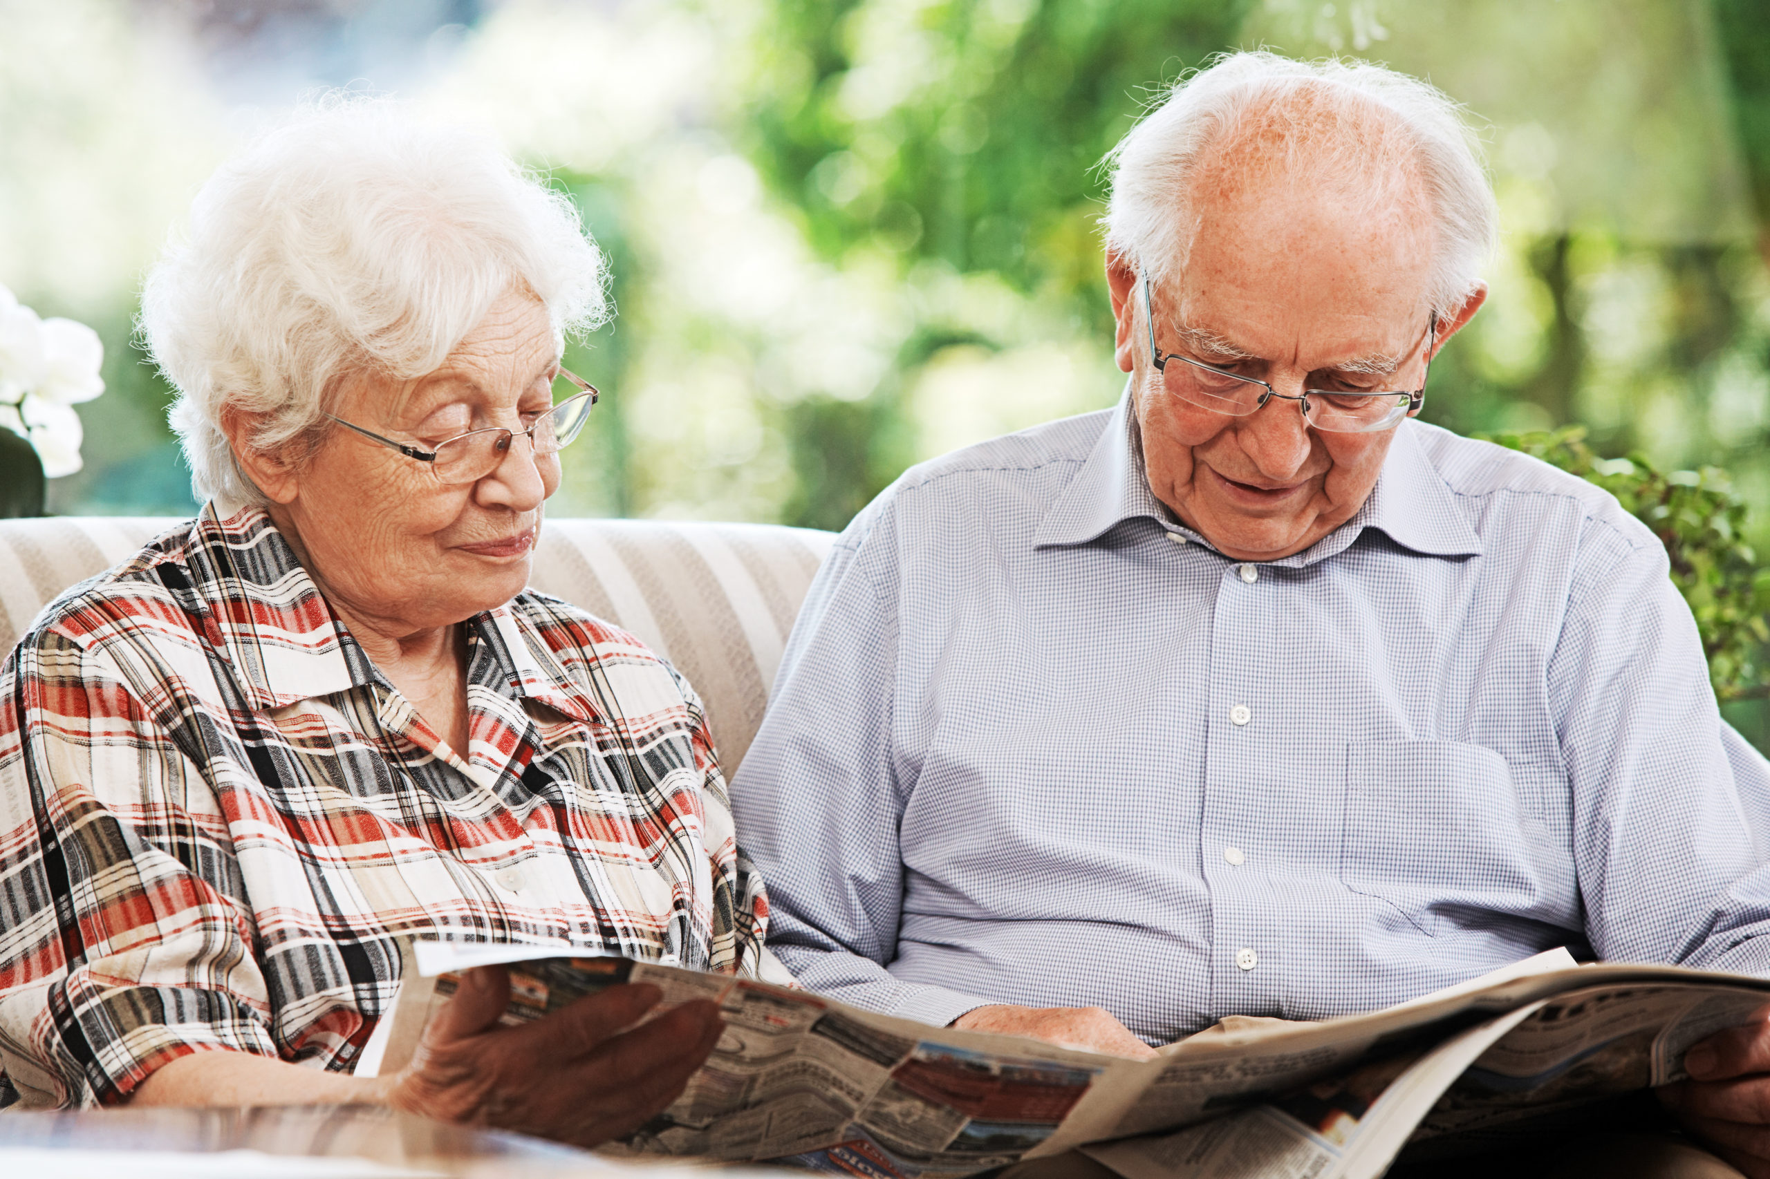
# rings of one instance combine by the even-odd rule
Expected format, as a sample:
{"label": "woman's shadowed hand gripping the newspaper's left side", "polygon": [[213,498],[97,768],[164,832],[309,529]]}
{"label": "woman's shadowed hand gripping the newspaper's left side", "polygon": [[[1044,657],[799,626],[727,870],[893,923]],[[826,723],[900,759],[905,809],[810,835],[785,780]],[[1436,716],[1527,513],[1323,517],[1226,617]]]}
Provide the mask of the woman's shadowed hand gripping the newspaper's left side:
{"label": "woman's shadowed hand gripping the newspaper's left side", "polygon": [[430,1020],[389,1105],[444,1122],[517,1129],[577,1145],[632,1133],[674,1101],[724,1029],[696,1000],[634,1027],[658,1002],[650,984],[611,986],[550,1016],[499,1027],[510,972],[478,967]]}

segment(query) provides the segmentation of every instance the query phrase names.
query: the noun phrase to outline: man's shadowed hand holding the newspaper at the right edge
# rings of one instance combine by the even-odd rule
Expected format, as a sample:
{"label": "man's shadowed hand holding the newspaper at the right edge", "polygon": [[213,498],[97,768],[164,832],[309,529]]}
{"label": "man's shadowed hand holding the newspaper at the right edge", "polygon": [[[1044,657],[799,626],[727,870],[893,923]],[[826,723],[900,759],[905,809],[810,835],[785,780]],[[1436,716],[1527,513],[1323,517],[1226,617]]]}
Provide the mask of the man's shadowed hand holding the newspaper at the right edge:
{"label": "man's shadowed hand holding the newspaper at the right edge", "polygon": [[1770,1007],[1692,1046],[1683,1067],[1690,1080],[1660,1087],[1660,1103],[1751,1179],[1770,1179]]}

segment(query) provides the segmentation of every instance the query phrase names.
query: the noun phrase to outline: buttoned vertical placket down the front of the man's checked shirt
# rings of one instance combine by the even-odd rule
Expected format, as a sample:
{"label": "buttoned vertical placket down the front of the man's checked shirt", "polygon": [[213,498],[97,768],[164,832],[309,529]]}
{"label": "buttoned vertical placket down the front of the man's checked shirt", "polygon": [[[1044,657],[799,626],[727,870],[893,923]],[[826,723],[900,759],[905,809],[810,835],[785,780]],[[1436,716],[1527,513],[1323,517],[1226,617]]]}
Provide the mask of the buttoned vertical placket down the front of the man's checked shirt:
{"label": "buttoned vertical placket down the front of the man's checked shirt", "polygon": [[1198,855],[1211,898],[1211,1009],[1221,1013],[1274,1014],[1283,995],[1283,952],[1266,912],[1274,848],[1239,805],[1269,768],[1271,692],[1283,666],[1276,590],[1269,566],[1225,565],[1211,621]]}

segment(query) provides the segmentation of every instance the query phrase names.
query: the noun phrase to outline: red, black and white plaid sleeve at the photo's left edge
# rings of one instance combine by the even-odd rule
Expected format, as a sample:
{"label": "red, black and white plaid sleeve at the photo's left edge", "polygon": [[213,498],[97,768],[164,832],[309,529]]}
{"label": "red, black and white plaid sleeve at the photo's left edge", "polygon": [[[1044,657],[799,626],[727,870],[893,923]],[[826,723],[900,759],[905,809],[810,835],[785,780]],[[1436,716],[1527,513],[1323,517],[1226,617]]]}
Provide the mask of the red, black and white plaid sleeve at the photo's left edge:
{"label": "red, black and white plaid sleeve at the photo's left edge", "polygon": [[112,1105],[193,1052],[276,1057],[211,784],[96,644],[0,669],[0,1067],[25,1105]]}

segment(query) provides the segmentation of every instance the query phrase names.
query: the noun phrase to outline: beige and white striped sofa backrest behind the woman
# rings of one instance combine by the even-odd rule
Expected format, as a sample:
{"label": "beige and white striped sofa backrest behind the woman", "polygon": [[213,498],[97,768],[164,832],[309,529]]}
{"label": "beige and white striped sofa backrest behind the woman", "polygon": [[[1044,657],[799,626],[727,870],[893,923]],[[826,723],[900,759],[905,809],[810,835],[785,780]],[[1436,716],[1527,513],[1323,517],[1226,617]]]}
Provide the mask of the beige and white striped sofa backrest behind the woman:
{"label": "beige and white striped sofa backrest behind the woman", "polygon": [[[0,651],[67,586],[175,520],[0,520]],[[547,520],[536,590],[632,630],[706,701],[729,777],[756,736],[781,648],[834,536],[773,524]]]}

